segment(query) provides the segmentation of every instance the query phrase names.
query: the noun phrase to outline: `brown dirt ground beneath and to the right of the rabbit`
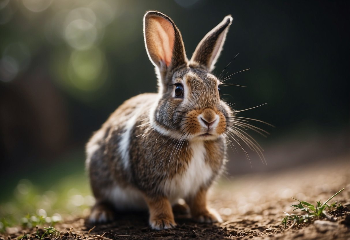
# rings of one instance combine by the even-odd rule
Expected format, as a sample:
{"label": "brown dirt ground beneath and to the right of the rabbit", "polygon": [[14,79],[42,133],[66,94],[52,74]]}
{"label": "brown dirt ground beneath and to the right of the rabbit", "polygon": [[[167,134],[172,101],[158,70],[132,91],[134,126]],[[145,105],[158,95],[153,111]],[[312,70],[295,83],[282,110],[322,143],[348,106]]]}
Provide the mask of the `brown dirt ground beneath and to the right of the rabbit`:
{"label": "brown dirt ground beneath and to the right of the rabbit", "polygon": [[[321,219],[293,228],[281,226],[283,211],[291,213],[291,197],[315,204],[345,188],[332,200],[345,208],[331,214],[336,220]],[[111,224],[91,226],[83,218],[66,219],[57,224],[61,233],[43,239],[350,239],[350,157],[305,165],[279,173],[223,178],[213,186],[210,206],[222,216],[222,224],[198,224],[175,214],[176,228],[153,231],[148,227],[148,214],[124,213]],[[297,212],[296,212],[297,213]],[[35,229],[13,228],[1,239],[16,239]],[[42,230],[39,230],[42,233]]]}

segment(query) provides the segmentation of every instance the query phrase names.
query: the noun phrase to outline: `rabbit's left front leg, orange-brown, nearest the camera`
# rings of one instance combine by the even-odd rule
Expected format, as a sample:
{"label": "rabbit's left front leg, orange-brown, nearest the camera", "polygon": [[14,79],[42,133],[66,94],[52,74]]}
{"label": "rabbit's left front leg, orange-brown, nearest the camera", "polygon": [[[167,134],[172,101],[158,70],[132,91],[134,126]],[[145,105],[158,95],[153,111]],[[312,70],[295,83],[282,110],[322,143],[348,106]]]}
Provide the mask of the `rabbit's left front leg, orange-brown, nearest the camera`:
{"label": "rabbit's left front leg, orange-brown, nearest the camera", "polygon": [[176,226],[172,206],[163,196],[145,197],[149,209],[149,225],[155,230]]}

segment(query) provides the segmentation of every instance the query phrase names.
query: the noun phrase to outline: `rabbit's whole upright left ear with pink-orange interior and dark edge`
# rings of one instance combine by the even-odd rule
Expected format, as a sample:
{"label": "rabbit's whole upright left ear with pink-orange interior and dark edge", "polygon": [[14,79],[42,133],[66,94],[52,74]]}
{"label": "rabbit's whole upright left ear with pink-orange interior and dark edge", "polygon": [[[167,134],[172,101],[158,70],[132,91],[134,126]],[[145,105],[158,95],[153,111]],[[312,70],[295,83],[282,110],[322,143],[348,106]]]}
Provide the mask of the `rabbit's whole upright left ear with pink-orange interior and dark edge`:
{"label": "rabbit's whole upright left ear with pink-orange interior and dark edge", "polygon": [[144,17],[144,36],[148,57],[160,73],[187,63],[181,33],[167,15],[147,12]]}

